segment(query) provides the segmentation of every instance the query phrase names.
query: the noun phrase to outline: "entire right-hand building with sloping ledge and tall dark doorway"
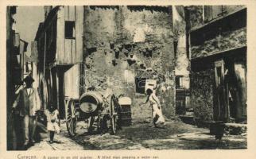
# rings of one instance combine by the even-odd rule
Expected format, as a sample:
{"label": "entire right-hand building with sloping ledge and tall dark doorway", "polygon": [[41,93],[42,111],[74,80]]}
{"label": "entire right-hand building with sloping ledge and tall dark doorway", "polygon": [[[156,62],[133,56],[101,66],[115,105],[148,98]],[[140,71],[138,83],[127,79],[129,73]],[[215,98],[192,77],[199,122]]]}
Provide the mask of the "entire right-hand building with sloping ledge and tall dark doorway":
{"label": "entire right-hand building with sloping ledge and tall dark doorway", "polygon": [[196,121],[246,121],[245,6],[188,6]]}

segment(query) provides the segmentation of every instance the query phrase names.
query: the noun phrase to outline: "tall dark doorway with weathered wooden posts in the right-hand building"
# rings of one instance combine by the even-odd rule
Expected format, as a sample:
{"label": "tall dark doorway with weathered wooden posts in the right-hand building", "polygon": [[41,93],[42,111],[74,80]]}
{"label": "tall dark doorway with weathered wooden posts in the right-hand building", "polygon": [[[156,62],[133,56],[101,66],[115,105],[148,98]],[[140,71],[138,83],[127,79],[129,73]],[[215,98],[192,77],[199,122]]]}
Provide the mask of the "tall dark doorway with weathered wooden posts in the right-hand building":
{"label": "tall dark doorway with weathered wooden posts in the right-hand building", "polygon": [[215,121],[246,121],[246,61],[229,56],[215,61]]}

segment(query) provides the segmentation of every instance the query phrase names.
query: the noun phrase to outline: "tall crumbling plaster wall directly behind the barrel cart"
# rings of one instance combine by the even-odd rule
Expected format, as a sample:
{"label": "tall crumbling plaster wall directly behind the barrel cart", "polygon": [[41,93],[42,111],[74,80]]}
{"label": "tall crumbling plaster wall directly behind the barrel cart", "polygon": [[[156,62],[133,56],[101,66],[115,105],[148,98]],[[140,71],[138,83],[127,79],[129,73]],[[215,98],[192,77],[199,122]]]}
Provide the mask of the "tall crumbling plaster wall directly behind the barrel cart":
{"label": "tall crumbling plaster wall directly behind the barrel cart", "polygon": [[157,80],[156,93],[164,114],[175,114],[172,29],[169,7],[86,6],[86,86],[129,96],[133,116],[139,116],[141,112],[133,110],[145,101],[145,95],[135,93],[134,80],[146,76]]}

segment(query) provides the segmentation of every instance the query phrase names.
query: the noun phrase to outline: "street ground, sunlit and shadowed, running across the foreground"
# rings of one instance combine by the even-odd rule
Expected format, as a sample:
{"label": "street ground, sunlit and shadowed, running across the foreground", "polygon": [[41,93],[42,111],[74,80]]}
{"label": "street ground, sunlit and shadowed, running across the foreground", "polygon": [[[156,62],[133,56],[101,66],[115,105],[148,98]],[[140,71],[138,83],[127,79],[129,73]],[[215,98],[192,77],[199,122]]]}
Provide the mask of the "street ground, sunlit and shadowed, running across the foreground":
{"label": "street ground, sunlit and shadowed, running across the foreground", "polygon": [[[68,137],[64,122],[56,142],[43,138],[29,150],[55,149],[246,149],[246,134],[226,135],[219,142],[208,129],[184,124],[180,121],[166,122],[165,129],[154,128],[149,122],[137,122],[123,127],[116,135],[87,133],[85,122],[78,122],[77,135]],[[45,135],[46,137],[46,135]]]}

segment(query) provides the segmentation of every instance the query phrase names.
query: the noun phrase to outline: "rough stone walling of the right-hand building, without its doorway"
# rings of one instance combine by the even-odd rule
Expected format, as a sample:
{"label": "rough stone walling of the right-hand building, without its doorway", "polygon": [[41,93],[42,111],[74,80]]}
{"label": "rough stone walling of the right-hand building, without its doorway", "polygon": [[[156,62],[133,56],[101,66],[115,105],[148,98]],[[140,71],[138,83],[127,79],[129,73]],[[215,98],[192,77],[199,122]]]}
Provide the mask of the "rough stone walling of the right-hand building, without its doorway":
{"label": "rough stone walling of the right-hand building, without its doorway", "polygon": [[229,50],[235,52],[233,50],[236,48],[246,46],[246,10],[242,7],[223,6],[223,10],[226,10],[223,17],[215,17],[211,21],[204,21],[202,6],[188,7],[188,24],[191,28],[192,107],[199,122],[213,119],[216,57],[232,59]]}

